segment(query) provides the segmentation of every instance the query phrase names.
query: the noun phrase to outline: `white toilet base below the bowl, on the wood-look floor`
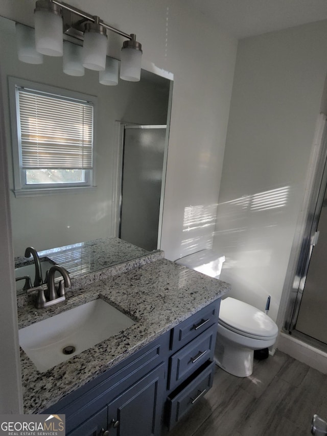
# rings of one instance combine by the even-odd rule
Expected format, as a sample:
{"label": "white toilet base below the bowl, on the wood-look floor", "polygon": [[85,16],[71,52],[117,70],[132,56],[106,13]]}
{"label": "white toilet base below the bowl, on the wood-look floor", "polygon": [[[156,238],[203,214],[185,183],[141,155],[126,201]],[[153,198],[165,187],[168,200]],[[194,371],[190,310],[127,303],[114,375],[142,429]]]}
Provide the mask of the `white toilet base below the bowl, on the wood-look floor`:
{"label": "white toilet base below the bowl, on the wood-look floor", "polygon": [[219,339],[216,342],[215,361],[220,368],[237,377],[248,377],[253,371],[253,350],[233,346]]}

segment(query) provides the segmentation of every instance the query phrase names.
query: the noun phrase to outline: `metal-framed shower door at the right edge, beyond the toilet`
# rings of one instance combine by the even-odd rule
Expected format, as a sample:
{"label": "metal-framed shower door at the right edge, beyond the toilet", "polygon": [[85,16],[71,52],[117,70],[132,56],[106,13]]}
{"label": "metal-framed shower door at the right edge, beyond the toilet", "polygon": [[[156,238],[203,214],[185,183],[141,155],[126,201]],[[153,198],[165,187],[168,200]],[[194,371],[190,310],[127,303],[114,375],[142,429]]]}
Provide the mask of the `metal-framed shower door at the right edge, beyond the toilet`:
{"label": "metal-framed shower door at the right edge, beyond the toilet", "polygon": [[[302,209],[302,232],[295,267],[290,274],[291,297],[284,329],[327,352],[327,127],[321,114]],[[295,242],[296,244],[296,242]]]}

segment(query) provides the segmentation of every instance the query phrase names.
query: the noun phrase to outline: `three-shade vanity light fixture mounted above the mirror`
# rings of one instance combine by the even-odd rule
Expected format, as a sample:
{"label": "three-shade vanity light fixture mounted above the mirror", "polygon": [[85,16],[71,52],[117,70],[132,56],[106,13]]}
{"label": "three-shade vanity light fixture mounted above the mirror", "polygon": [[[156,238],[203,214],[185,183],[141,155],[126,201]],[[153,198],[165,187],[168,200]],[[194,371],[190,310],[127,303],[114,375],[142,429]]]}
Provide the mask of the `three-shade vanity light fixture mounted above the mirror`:
{"label": "three-shade vanity light fixture mounted above the mirror", "polygon": [[[105,72],[114,70],[118,76],[118,63],[109,65],[106,57],[107,30],[119,34],[127,39],[124,41],[121,56],[121,79],[139,81],[141,76],[142,45],[136,41],[135,34],[128,34],[106,24],[98,16],[90,15],[80,9],[58,0],[37,0],[34,10],[35,42],[39,53],[49,56],[62,56],[62,33],[83,40],[82,65],[90,70]],[[66,44],[65,44],[66,45]],[[79,49],[77,49],[78,51]],[[65,51],[69,51],[68,45]],[[71,75],[82,75],[82,70],[68,68],[68,57],[64,55],[64,72]],[[75,55],[74,55],[75,56]],[[72,57],[74,57],[72,56]],[[75,58],[77,59],[77,58]],[[106,62],[107,61],[107,62]],[[106,63],[108,67],[106,67]],[[75,73],[74,73],[75,71]],[[100,78],[100,83],[109,83],[117,80]],[[113,73],[112,73],[113,74]],[[112,76],[113,77],[113,76]]]}

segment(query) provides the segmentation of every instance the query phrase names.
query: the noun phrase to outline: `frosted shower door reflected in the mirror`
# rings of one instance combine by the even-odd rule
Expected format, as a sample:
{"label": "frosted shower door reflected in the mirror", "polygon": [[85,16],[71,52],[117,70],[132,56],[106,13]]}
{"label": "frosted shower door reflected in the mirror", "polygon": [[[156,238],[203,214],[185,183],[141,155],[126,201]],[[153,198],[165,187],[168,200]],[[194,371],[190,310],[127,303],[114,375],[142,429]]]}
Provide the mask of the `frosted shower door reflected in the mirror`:
{"label": "frosted shower door reflected in the mirror", "polygon": [[120,238],[149,251],[158,245],[166,125],[125,126]]}

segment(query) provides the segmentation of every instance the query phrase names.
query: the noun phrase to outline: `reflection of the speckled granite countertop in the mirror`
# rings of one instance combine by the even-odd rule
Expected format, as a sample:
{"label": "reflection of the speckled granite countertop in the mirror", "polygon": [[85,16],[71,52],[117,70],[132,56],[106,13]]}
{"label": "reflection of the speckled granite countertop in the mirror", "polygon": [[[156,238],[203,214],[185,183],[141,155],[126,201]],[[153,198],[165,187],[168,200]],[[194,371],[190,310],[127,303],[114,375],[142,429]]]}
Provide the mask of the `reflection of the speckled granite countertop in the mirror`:
{"label": "reflection of the speckled granite countertop in the mirror", "polygon": [[[38,251],[38,255],[40,259],[50,259],[63,266],[69,272],[71,279],[74,279],[72,288],[76,288],[162,259],[164,252],[147,251],[112,237]],[[31,263],[33,258],[15,258],[15,266]],[[21,290],[17,292],[19,293],[25,292]]]}

